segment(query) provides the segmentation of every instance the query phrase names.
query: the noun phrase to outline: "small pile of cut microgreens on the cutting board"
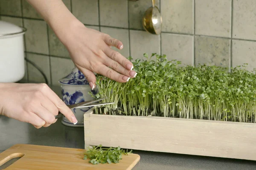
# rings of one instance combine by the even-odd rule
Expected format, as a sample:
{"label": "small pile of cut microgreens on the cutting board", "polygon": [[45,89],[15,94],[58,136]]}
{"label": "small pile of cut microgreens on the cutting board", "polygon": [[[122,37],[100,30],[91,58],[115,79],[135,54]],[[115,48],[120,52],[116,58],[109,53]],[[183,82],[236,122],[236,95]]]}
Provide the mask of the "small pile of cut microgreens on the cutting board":
{"label": "small pile of cut microgreens on the cutting board", "polygon": [[93,146],[87,150],[87,152],[84,153],[84,160],[89,158],[89,162],[92,164],[119,163],[119,161],[122,160],[122,155],[128,155],[128,153],[132,153],[132,150],[125,152],[125,150],[120,147],[102,148],[100,144],[97,147]]}

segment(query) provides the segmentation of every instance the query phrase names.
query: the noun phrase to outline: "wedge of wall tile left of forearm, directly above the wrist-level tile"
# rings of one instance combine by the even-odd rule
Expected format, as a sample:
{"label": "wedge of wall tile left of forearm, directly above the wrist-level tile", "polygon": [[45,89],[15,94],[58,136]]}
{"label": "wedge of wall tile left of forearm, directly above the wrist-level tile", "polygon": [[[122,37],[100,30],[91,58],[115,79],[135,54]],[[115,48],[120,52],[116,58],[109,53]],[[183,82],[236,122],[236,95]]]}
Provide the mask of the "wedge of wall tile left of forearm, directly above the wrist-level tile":
{"label": "wedge of wall tile left of forearm, directly above the wrist-level tile", "polygon": [[70,57],[67,48],[58,39],[52,28],[48,26],[49,34],[49,52],[50,55],[59,57]]}

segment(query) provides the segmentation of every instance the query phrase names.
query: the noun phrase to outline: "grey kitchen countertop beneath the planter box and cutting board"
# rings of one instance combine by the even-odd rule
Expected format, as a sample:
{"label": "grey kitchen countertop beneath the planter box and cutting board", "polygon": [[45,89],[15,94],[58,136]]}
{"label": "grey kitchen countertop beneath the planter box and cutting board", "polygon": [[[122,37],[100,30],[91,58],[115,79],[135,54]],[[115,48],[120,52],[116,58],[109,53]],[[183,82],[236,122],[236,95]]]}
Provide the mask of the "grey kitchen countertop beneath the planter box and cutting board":
{"label": "grey kitchen countertop beneath the planter box and cutting board", "polygon": [[[51,88],[60,96],[58,86]],[[0,116],[0,153],[19,143],[84,149],[84,128],[62,125],[59,119],[49,127],[36,129],[28,123]],[[256,161],[140,150],[133,153],[140,155],[133,170],[256,170]]]}

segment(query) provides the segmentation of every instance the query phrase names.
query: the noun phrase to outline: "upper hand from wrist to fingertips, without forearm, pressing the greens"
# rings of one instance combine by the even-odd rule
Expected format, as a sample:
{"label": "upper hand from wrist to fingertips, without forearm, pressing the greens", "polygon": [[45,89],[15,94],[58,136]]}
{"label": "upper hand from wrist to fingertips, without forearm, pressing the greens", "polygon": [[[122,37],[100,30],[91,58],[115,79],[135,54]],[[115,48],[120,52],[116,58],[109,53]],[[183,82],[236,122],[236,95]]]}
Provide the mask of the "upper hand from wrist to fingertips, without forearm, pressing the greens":
{"label": "upper hand from wrist to fingertips, without forearm, pressing the greens", "polygon": [[[76,67],[84,74],[93,89],[95,73],[117,82],[128,82],[136,76],[133,64],[111,46],[122,49],[123,44],[108,34],[85,27],[78,21],[71,25],[69,36],[63,38]],[[64,36],[63,36],[64,37]]]}

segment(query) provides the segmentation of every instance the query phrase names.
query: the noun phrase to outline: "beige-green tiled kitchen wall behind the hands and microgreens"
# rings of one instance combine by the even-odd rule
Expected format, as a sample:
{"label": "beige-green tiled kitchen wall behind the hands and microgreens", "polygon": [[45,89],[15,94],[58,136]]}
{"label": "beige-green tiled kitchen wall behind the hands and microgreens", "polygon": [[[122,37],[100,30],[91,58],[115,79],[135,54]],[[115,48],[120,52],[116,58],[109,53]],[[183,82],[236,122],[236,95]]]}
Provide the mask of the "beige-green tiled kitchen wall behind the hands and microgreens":
{"label": "beige-green tiled kitchen wall behind the hands and microgreens", "polygon": [[[85,26],[121,40],[125,57],[143,53],[166,54],[184,64],[256,68],[256,0],[156,0],[163,17],[161,35],[144,31],[142,16],[151,0],[63,0]],[[0,18],[24,26],[26,57],[35,62],[49,82],[74,67],[51,28],[25,0],[0,0]],[[117,50],[119,51],[119,50]],[[44,82],[26,63],[24,81]]]}

